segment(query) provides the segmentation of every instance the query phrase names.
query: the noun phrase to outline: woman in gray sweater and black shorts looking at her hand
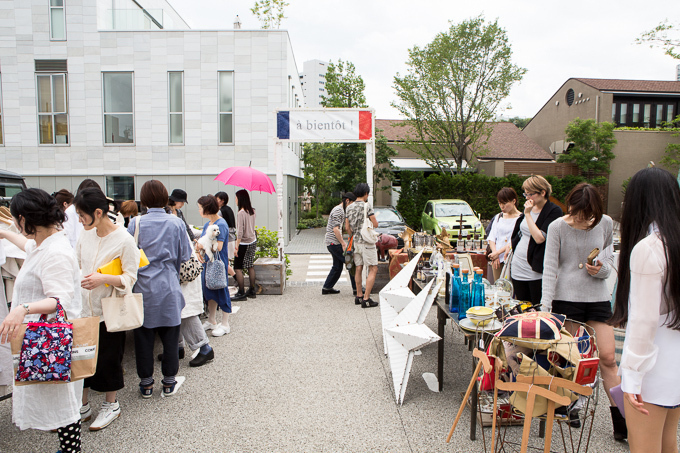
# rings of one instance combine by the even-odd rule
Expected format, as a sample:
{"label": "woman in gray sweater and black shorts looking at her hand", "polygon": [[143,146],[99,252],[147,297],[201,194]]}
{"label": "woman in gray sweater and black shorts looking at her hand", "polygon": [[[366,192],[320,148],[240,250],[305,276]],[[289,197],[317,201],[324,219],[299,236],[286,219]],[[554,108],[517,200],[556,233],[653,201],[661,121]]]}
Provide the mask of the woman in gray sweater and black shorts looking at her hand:
{"label": "woman in gray sweater and black shorts looking at her hand", "polygon": [[[548,228],[543,262],[543,310],[565,315],[595,330],[600,354],[600,370],[604,389],[611,404],[614,437],[626,437],[625,421],[609,394],[621,383],[615,359],[614,329],[607,324],[612,316],[611,295],[606,279],[613,266],[611,217],[603,214],[602,197],[587,183],[577,185],[566,199],[568,214]],[[592,264],[588,255],[600,253]],[[567,322],[572,334],[576,326]]]}

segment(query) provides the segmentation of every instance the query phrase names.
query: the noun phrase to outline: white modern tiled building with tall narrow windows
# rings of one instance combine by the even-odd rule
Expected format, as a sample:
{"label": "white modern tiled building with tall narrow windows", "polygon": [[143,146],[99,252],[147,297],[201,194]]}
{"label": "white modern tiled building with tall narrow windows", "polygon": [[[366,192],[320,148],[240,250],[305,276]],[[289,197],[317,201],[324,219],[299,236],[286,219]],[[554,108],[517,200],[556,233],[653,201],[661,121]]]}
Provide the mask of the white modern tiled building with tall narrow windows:
{"label": "white modern tiled building with tall narrow windows", "polygon": [[[29,186],[84,178],[139,200],[149,179],[194,201],[237,188],[227,167],[271,175],[275,110],[304,104],[285,30],[192,30],[165,0],[0,1],[0,168]],[[286,241],[297,224],[299,145],[284,148]],[[276,194],[253,193],[257,225],[278,227]]]}

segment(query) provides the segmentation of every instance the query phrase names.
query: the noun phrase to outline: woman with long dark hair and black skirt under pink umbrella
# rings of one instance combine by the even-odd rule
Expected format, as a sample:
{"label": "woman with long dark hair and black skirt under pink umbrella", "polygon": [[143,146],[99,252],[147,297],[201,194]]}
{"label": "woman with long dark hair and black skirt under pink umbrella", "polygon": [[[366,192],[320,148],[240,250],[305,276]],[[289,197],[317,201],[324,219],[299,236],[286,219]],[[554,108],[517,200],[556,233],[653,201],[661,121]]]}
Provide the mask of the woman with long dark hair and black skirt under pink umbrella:
{"label": "woman with long dark hair and black skirt under pink umbrella", "polygon": [[[248,191],[241,189],[236,192],[236,204],[238,214],[236,214],[236,245],[234,249],[234,271],[236,272],[236,283],[238,292],[231,299],[243,300],[247,297],[254,298],[257,294],[255,290],[255,251],[257,250],[257,233],[255,232],[255,209],[250,204]],[[245,292],[243,269],[248,269],[248,280],[250,289],[248,294]]]}

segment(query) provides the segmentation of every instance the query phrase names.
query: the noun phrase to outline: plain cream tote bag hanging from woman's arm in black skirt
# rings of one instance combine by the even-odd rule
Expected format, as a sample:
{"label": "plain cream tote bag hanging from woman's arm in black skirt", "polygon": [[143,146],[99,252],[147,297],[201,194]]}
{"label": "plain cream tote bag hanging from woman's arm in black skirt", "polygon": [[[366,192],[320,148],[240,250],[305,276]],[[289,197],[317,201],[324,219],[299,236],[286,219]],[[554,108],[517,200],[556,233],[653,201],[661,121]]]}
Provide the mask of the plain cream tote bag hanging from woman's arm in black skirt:
{"label": "plain cream tote bag hanging from woman's arm in black skirt", "polygon": [[[135,218],[135,244],[139,247],[139,225],[141,217]],[[111,297],[102,299],[102,314],[109,332],[124,332],[141,327],[144,324],[144,295],[133,293],[129,287],[125,288],[123,297],[113,290]]]}

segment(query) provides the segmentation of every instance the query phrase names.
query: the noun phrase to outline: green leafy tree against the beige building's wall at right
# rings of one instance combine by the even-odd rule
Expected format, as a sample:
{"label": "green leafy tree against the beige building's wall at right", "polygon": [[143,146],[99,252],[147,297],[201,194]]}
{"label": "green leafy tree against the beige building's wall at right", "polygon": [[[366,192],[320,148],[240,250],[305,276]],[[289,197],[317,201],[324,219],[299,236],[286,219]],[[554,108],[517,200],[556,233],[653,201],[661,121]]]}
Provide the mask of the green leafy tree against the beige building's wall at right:
{"label": "green leafy tree against the beige building's wall at right", "polygon": [[596,123],[593,119],[575,118],[565,129],[567,141],[574,146],[560,154],[558,162],[573,162],[581,173],[591,180],[597,173],[611,173],[609,161],[616,157],[612,149],[616,145],[614,123]]}

